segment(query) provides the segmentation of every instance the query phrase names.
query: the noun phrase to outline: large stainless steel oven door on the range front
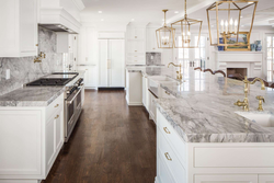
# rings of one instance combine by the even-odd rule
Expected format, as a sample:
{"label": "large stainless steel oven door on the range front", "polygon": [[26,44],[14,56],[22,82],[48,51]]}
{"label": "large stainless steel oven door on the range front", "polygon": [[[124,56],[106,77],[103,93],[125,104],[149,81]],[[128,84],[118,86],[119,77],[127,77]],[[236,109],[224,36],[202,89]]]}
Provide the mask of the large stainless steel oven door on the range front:
{"label": "large stainless steel oven door on the range front", "polygon": [[80,87],[73,94],[66,100],[66,141],[73,130],[76,122],[79,117],[81,108],[79,108],[79,100],[81,100],[82,88]]}

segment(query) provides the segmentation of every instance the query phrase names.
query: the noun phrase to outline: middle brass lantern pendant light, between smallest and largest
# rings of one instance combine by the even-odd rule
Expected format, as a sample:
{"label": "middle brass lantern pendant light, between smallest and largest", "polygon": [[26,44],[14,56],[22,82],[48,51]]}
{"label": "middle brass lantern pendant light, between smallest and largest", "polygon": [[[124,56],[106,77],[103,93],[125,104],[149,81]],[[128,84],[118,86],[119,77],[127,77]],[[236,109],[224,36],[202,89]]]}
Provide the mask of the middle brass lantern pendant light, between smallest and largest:
{"label": "middle brass lantern pendant light, between smallest and largest", "polygon": [[[173,39],[175,48],[197,48],[199,44],[201,31],[203,21],[187,18],[186,0],[184,1],[184,18],[171,24],[171,27],[180,27],[178,41]],[[178,28],[179,30],[179,28]],[[192,33],[198,33],[196,42],[192,41]]]}

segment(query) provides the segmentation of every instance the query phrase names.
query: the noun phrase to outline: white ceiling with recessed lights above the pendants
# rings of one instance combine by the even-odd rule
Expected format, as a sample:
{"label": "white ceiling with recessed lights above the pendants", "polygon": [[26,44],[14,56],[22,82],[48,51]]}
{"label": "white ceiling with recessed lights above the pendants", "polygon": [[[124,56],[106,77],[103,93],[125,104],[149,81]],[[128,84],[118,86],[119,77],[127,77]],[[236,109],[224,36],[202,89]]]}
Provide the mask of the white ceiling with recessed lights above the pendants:
{"label": "white ceiling with recessed lights above the pendants", "polygon": [[[82,22],[144,22],[161,24],[163,13],[169,9],[168,23],[184,14],[184,0],[82,0],[85,9]],[[189,0],[187,14],[193,19],[206,20],[206,8],[216,0]],[[102,11],[102,13],[99,13]],[[175,13],[178,11],[179,13]],[[244,14],[249,16],[249,13]],[[134,20],[133,20],[134,19]],[[270,25],[274,20],[274,0],[259,0],[254,25]]]}

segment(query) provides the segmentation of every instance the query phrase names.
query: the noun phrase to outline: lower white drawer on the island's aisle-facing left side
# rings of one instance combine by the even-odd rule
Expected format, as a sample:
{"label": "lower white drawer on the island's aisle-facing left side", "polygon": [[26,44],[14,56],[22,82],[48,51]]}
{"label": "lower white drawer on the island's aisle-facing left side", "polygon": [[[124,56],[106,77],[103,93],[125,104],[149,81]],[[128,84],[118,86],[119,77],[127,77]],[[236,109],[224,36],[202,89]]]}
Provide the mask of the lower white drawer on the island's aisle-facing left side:
{"label": "lower white drawer on the island's aisle-facing left side", "polygon": [[158,138],[159,138],[158,152],[160,153],[168,169],[170,170],[172,178],[178,183],[186,183],[186,171],[180,163],[176,155],[171,149],[169,142],[167,141],[161,131],[158,133]]}

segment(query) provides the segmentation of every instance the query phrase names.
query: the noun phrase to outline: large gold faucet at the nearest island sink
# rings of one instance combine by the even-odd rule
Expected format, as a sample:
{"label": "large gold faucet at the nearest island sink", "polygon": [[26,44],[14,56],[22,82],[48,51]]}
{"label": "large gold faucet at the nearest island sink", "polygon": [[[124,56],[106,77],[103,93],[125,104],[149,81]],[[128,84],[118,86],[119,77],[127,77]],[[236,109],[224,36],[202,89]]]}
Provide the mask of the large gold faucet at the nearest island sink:
{"label": "large gold faucet at the nearest island sink", "polygon": [[260,78],[255,78],[253,81],[249,81],[248,80],[248,77],[246,76],[244,77],[244,80],[242,81],[244,83],[244,99],[243,101],[241,102],[240,100],[238,100],[235,105],[237,106],[242,106],[243,107],[243,111],[248,112],[249,111],[249,99],[248,99],[248,94],[249,94],[249,84],[253,84],[255,83],[256,81],[260,81],[262,87],[261,87],[261,90],[265,90],[265,85],[264,85],[264,82],[262,79]]}

